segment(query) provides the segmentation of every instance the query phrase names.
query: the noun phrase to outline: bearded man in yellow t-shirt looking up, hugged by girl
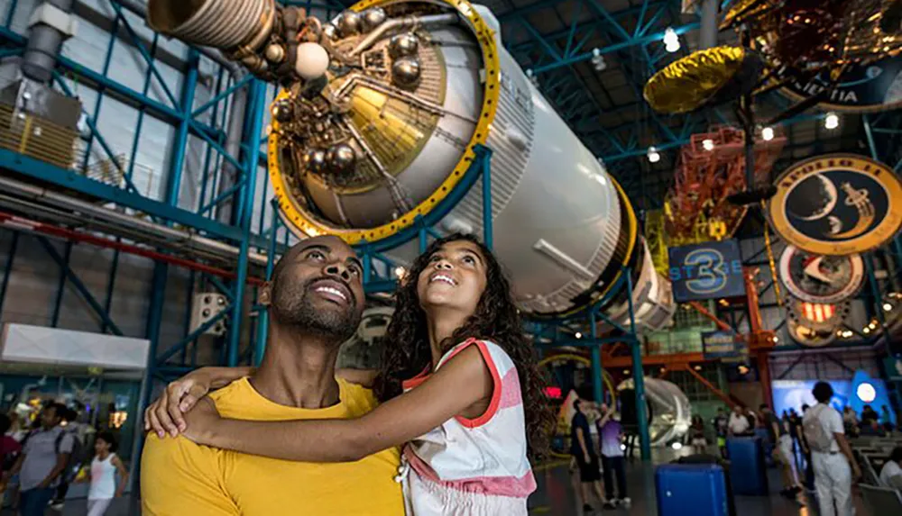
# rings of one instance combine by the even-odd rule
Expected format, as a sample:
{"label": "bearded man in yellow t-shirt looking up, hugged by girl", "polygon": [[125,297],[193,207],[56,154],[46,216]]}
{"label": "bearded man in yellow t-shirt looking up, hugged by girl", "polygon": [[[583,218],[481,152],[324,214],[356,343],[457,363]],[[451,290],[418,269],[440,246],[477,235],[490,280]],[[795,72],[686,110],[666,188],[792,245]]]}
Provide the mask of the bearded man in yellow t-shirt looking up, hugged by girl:
{"label": "bearded man in yellow t-shirt looking up, hugged by girl", "polygon": [[[335,237],[304,240],[262,288],[270,332],[262,364],[211,394],[226,418],[254,421],[355,418],[376,405],[360,385],[336,378],[338,348],[364,308],[363,267]],[[350,463],[314,464],[148,436],[141,464],[145,516],[402,516],[394,481],[398,450]]]}

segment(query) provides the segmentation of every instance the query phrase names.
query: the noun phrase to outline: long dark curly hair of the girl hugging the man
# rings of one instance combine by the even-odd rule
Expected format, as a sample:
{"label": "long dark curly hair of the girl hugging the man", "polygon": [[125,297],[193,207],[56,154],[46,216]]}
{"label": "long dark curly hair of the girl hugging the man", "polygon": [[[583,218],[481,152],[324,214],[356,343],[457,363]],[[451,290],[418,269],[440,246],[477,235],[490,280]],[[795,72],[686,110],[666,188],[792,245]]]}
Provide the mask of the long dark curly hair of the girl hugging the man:
{"label": "long dark curly hair of the girl hugging the man", "polygon": [[526,433],[529,457],[542,457],[548,450],[548,436],[555,418],[548,407],[542,387],[547,385],[538,368],[538,358],[531,340],[524,334],[520,313],[511,299],[511,285],[502,272],[501,264],[483,243],[461,233],[435,240],[413,262],[405,281],[399,285],[395,297],[395,312],[386,330],[383,342],[382,373],[376,382],[376,395],[385,401],[401,393],[401,382],[419,375],[432,360],[429,347],[426,312],[420,307],[417,294],[417,278],[429,265],[432,257],[448,242],[466,240],[474,243],[482,252],[486,264],[485,291],[476,305],[476,311],[441,343],[447,351],[465,339],[492,340],[510,355],[523,390],[523,410],[526,417]]}

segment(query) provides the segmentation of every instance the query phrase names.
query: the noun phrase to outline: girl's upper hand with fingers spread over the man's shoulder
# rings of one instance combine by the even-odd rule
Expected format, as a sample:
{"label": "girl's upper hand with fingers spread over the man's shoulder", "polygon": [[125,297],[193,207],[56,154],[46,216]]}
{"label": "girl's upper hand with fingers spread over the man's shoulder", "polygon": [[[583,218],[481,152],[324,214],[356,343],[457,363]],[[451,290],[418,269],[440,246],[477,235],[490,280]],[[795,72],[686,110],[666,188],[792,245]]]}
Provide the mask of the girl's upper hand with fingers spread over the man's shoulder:
{"label": "girl's upper hand with fingers spread over the man's shoulder", "polygon": [[167,432],[177,437],[186,429],[183,413],[191,410],[210,391],[212,383],[210,372],[203,368],[166,385],[160,398],[144,411],[144,430],[157,432],[160,439],[166,437]]}

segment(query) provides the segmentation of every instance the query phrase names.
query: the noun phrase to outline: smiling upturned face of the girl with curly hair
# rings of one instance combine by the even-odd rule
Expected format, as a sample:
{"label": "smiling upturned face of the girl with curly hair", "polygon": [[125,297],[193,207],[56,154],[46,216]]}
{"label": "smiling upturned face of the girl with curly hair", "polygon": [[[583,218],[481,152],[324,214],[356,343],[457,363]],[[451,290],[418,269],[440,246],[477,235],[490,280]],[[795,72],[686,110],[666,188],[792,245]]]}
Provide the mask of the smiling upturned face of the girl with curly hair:
{"label": "smiling upturned face of the girl with curly hair", "polygon": [[441,307],[472,315],[485,291],[485,269],[485,257],[476,244],[447,242],[429,257],[417,278],[419,305],[426,312]]}

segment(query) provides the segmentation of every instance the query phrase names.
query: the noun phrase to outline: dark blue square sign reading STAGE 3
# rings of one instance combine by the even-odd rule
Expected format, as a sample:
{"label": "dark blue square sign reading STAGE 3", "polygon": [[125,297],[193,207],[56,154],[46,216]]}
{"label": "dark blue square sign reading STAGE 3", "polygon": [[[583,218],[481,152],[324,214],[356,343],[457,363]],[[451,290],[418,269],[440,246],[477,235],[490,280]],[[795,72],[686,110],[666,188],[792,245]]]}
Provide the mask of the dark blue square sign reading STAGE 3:
{"label": "dark blue square sign reading STAGE 3", "polygon": [[736,240],[667,249],[669,276],[677,303],[745,295]]}

